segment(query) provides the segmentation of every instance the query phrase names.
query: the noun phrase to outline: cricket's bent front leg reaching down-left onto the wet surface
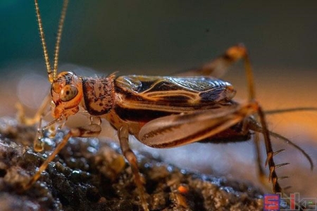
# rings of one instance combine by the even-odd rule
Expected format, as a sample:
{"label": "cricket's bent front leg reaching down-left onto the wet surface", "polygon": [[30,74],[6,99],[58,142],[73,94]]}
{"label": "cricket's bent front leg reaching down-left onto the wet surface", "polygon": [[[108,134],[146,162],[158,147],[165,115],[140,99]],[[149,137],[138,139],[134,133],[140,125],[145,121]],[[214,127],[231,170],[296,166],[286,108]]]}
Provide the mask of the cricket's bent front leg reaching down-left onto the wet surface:
{"label": "cricket's bent front leg reaching down-left onto the wet surface", "polygon": [[70,131],[63,136],[63,139],[56,148],[54,149],[53,153],[49,155],[48,158],[42,163],[42,165],[39,167],[39,170],[33,175],[32,179],[30,179],[29,183],[24,186],[25,189],[30,188],[32,184],[35,183],[41,176],[41,173],[46,170],[47,166],[49,165],[49,162],[54,160],[55,156],[61,151],[61,149],[66,145],[68,142],[68,139],[70,137],[93,137],[97,136],[101,132],[101,127],[98,124],[89,124],[85,127],[77,127],[70,129]]}

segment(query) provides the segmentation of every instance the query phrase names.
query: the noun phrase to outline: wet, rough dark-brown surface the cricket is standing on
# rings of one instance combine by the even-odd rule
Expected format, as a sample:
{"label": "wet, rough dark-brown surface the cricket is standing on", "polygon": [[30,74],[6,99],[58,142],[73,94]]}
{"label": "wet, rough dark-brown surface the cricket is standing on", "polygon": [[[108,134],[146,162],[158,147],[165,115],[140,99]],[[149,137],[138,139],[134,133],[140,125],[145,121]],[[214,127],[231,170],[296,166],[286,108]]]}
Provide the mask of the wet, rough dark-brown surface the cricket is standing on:
{"label": "wet, rough dark-brown surface the cricket is standing on", "polygon": [[[45,150],[35,153],[35,127],[0,119],[0,210],[142,210],[118,144],[95,138],[70,139],[39,181],[23,190],[65,132],[44,138]],[[250,184],[136,154],[150,210],[263,210],[263,193]]]}

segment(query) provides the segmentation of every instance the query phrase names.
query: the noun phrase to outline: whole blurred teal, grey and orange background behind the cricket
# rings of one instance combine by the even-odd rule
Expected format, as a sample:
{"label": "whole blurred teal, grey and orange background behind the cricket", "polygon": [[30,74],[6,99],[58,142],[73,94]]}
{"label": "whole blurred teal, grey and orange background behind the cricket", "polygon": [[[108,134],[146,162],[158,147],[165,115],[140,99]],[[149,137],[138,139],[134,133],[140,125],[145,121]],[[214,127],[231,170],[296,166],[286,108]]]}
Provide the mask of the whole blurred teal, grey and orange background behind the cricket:
{"label": "whole blurred teal, grey and orange background behind the cricket", "polygon": [[[61,0],[39,1],[51,62],[61,6]],[[243,42],[263,108],[317,107],[316,9],[317,1],[70,1],[59,70],[90,76],[115,71],[168,75],[200,66]],[[0,18],[0,115],[14,116],[17,101],[32,115],[49,90],[34,4],[1,1]],[[247,98],[242,63],[224,79],[235,85],[237,99]],[[268,116],[270,129],[304,148],[315,163],[316,122],[316,111]],[[259,185],[251,141],[168,150],[149,149],[137,141],[132,145],[180,167]],[[278,162],[291,162],[279,170],[290,176],[283,185],[317,198],[317,171],[311,172],[304,156],[287,144],[275,140],[273,146],[286,148]]]}

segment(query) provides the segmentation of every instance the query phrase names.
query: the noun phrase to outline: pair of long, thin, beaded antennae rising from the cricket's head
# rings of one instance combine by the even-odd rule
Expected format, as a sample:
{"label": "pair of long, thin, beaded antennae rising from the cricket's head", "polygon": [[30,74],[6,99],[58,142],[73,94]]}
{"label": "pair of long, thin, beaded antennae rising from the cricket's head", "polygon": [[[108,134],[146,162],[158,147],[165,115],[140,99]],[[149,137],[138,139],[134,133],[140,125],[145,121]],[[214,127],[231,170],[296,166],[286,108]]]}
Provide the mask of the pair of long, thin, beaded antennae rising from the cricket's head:
{"label": "pair of long, thin, beaded antennae rising from the cricket's head", "polygon": [[44,37],[44,30],[43,30],[43,25],[42,25],[42,18],[41,18],[41,15],[39,13],[39,4],[37,3],[37,0],[35,0],[35,11],[37,13],[37,23],[39,24],[39,35],[41,37],[47,74],[49,77],[49,82],[51,82],[51,83],[53,83],[57,77],[58,53],[59,53],[59,46],[61,43],[61,34],[63,32],[63,24],[64,24],[64,20],[66,17],[67,6],[68,6],[68,0],[64,0],[63,8],[61,11],[61,17],[59,18],[59,23],[58,23],[58,30],[57,30],[57,37],[56,37],[56,44],[55,44],[54,70],[52,71],[51,64],[49,62],[49,53],[47,53],[47,47],[46,47],[46,42],[45,42],[45,37]]}

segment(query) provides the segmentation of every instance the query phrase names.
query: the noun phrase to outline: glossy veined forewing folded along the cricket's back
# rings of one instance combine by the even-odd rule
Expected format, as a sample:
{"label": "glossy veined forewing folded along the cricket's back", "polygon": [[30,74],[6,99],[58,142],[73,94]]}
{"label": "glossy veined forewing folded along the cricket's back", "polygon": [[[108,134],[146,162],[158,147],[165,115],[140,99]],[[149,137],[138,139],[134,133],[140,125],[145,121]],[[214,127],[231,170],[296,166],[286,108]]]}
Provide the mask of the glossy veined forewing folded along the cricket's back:
{"label": "glossy veined forewing folded along the cricket's back", "polygon": [[118,77],[116,85],[138,100],[156,103],[216,103],[235,96],[230,83],[213,77],[128,75]]}

